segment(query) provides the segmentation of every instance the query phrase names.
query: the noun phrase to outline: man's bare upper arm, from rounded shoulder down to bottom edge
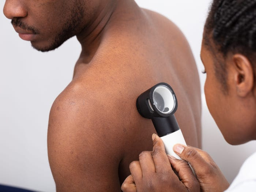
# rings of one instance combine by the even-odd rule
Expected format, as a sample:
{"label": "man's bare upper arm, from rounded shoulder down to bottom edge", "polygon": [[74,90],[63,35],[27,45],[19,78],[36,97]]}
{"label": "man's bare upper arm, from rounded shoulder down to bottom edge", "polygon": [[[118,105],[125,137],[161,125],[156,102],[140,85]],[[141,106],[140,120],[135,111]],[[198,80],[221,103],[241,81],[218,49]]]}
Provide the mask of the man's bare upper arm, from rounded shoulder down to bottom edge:
{"label": "man's bare upper arm, from rounded shoulder down to bottom edge", "polygon": [[120,191],[114,134],[102,123],[97,98],[80,88],[67,88],[50,112],[48,155],[56,189]]}

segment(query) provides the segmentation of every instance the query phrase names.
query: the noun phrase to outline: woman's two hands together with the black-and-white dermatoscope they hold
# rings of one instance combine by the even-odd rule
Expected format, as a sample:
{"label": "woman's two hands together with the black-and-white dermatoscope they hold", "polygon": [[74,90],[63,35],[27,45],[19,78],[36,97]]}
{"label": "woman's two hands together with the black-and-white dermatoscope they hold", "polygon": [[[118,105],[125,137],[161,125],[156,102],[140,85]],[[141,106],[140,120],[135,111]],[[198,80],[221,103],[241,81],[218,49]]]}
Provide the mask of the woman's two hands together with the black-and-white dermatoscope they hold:
{"label": "woman's two hands together with the black-and-white dermatoscope they hold", "polygon": [[[139,161],[130,164],[131,175],[124,181],[122,191],[224,191],[229,187],[207,153],[186,146],[174,116],[177,98],[172,87],[159,83],[141,94],[136,105],[143,117],[152,119],[161,139],[153,136],[153,152],[144,151],[140,154]],[[177,154],[174,153],[173,146]],[[169,156],[168,159],[165,152],[173,157]],[[196,177],[188,162],[195,168]]]}

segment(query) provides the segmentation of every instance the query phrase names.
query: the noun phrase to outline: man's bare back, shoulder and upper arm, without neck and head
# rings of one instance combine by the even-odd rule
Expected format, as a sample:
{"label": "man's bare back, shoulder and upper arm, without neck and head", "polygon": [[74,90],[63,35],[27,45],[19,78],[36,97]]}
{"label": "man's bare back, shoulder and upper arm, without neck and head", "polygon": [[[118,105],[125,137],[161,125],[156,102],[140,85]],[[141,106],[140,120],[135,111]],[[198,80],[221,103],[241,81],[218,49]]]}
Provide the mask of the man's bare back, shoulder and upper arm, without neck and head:
{"label": "man's bare back, shoulder and upper arm, without neck and head", "polygon": [[120,5],[123,14],[111,16],[94,56],[80,57],[53,104],[48,149],[57,191],[120,191],[129,163],[151,150],[155,133],[136,98],[159,82],[175,90],[184,137],[200,147],[199,77],[186,39],[163,16],[127,6],[134,14]]}

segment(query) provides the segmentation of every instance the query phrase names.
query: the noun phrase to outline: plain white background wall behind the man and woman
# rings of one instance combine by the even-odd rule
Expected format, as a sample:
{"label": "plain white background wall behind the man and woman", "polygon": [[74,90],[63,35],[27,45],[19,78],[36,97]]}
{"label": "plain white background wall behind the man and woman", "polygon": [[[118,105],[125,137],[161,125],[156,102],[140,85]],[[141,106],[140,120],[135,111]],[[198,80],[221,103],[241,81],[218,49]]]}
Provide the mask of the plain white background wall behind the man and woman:
{"label": "plain white background wall behind the man and woman", "polygon": [[[0,1],[1,9],[4,2]],[[202,71],[199,54],[210,0],[136,2],[180,27]],[[72,79],[80,45],[72,38],[53,52],[40,53],[18,37],[2,13],[0,24],[0,184],[55,191],[47,157],[48,116],[54,99]],[[205,77],[200,73],[202,90]],[[232,181],[242,162],[255,151],[256,143],[227,144],[208,112],[203,94],[202,100],[203,150]]]}

